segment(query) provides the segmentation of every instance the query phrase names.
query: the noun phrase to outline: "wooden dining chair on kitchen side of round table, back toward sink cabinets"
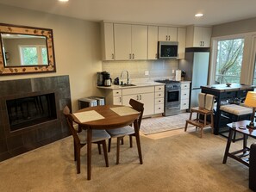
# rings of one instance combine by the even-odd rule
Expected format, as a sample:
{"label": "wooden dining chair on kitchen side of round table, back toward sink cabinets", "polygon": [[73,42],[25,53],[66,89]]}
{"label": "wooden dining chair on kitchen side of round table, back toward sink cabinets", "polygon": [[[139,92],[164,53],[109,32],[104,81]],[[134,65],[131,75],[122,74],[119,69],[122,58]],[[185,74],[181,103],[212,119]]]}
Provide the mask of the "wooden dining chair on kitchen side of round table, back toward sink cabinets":
{"label": "wooden dining chair on kitchen side of round table, back toward sink cabinets", "polygon": [[[140,123],[141,123],[142,115],[143,115],[143,111],[144,111],[144,104],[141,102],[137,102],[134,99],[130,99],[129,104],[136,111],[140,112],[140,117],[138,119],[138,127],[140,129]],[[111,137],[109,139],[109,152],[110,152],[110,148],[111,148],[111,139],[117,138],[117,141],[116,141],[116,164],[119,164],[120,143],[122,142],[123,138],[126,135],[128,135],[130,147],[133,147],[133,136],[135,137],[134,127],[133,127],[133,125],[130,125],[130,126],[120,127],[120,128],[115,128],[115,129],[107,129],[106,131],[109,133],[109,135]]]}

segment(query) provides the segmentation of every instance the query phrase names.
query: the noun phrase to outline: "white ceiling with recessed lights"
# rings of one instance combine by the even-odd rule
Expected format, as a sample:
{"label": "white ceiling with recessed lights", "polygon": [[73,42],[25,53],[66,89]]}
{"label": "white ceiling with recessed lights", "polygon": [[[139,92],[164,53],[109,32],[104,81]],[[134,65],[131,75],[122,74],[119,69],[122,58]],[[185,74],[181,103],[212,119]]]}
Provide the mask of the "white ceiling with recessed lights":
{"label": "white ceiling with recessed lights", "polygon": [[[88,21],[215,25],[256,17],[255,0],[0,0],[0,3]],[[0,5],[1,6],[1,5]],[[201,12],[202,18],[195,18]]]}

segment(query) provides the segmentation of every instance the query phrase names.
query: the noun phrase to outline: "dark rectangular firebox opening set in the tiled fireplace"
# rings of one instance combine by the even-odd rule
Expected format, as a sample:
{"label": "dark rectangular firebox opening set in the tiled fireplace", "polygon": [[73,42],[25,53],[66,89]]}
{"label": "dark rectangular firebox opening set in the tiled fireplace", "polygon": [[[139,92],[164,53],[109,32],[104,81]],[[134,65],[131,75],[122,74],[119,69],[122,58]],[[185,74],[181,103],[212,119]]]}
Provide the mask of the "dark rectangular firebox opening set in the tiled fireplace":
{"label": "dark rectangular firebox opening set in the tiled fireplace", "polygon": [[6,101],[10,131],[57,118],[54,93]]}

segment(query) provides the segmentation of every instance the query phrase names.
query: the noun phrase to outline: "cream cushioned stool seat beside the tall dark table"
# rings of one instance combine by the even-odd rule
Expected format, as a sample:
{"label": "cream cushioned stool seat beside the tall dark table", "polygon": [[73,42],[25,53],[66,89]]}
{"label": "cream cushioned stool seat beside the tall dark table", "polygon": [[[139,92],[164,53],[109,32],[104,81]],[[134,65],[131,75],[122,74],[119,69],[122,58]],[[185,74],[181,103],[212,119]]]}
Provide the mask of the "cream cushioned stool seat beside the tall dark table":
{"label": "cream cushioned stool seat beside the tall dark table", "polygon": [[243,107],[240,105],[230,104],[230,105],[222,105],[220,108],[222,111],[225,111],[229,114],[233,115],[248,115],[253,113],[252,108]]}

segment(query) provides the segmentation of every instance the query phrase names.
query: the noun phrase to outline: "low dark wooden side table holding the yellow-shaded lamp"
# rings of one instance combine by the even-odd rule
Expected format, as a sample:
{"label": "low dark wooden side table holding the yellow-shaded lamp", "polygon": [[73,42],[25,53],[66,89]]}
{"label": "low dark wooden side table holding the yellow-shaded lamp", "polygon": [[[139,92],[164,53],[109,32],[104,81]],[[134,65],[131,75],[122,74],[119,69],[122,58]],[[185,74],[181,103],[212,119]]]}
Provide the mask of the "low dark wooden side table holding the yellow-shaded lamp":
{"label": "low dark wooden side table holding the yellow-shaded lamp", "polygon": [[[249,166],[247,156],[249,155],[250,148],[247,147],[247,137],[250,136],[250,137],[253,137],[254,139],[256,139],[256,130],[247,128],[247,125],[249,123],[250,123],[250,121],[247,121],[247,120],[234,122],[235,127],[232,126],[232,123],[228,123],[228,127],[229,127],[228,142],[227,142],[226,150],[224,153],[224,158],[223,158],[223,162],[222,162],[223,164],[227,163],[227,158],[229,157],[229,158],[234,158],[235,160],[239,161],[240,163]],[[240,126],[246,127],[246,129],[240,129],[239,128]],[[232,141],[232,136],[234,134],[234,131],[243,134],[243,148],[236,152],[229,152],[229,148],[230,148],[230,144]]]}

